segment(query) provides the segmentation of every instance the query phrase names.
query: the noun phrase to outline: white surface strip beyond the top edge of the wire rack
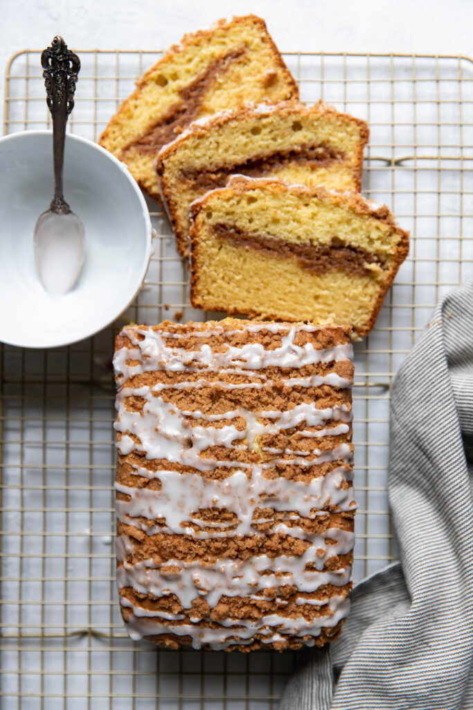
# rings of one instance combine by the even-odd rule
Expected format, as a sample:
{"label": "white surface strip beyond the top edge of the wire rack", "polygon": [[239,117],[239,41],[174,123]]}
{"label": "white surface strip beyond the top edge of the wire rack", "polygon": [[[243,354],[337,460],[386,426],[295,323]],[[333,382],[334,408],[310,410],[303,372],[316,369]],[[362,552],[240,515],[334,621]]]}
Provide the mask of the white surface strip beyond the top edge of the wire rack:
{"label": "white surface strip beyond the top edge of the wire rack", "polygon": [[265,18],[286,51],[473,54],[472,0],[4,0],[0,93],[11,55],[43,48],[55,34],[74,49],[160,49],[186,31],[249,12]]}

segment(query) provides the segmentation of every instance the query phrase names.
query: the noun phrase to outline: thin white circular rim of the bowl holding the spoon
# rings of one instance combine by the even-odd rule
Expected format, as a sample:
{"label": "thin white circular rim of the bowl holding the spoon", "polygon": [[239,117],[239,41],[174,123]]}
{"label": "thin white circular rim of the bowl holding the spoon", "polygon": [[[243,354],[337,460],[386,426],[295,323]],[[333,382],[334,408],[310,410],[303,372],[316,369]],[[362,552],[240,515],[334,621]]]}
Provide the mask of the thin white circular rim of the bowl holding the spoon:
{"label": "thin white circular rim of the bowl holding the spoon", "polygon": [[[26,137],[31,137],[33,138],[34,136],[39,137],[39,136],[51,136],[52,138],[52,130],[48,131],[46,129],[39,129],[39,130],[34,130],[34,131],[15,131],[14,133],[7,133],[4,136],[0,136],[0,146],[4,143],[9,143],[10,141],[13,142],[16,140],[21,140],[22,138]],[[148,205],[146,204],[145,197],[143,195],[143,192],[141,192],[140,187],[138,186],[138,182],[136,182],[135,178],[133,178],[133,175],[131,175],[130,170],[128,170],[128,167],[125,165],[125,163],[122,163],[121,160],[118,160],[118,158],[115,157],[115,155],[112,155],[112,153],[109,153],[106,151],[105,148],[102,148],[99,146],[98,143],[95,143],[94,141],[90,141],[89,138],[84,138],[84,136],[78,136],[76,133],[70,133],[67,131],[66,133],[66,144],[68,139],[72,139],[72,141],[77,141],[79,143],[85,143],[87,146],[93,148],[95,151],[98,151],[99,153],[102,153],[108,160],[111,160],[112,163],[116,165],[116,167],[121,171],[123,174],[123,177],[130,182],[130,184],[133,187],[133,192],[135,192],[136,197],[138,197],[138,202],[140,203],[142,212],[143,212],[143,217],[145,217],[145,229],[146,229],[146,251],[145,251],[145,256],[143,258],[143,264],[141,267],[141,271],[137,278],[135,279],[136,283],[136,289],[133,293],[133,296],[130,298],[130,300],[126,303],[126,305],[122,308],[120,312],[116,313],[111,319],[108,319],[108,317],[104,318],[104,322],[101,322],[99,327],[94,328],[91,330],[91,332],[81,332],[77,335],[77,337],[74,336],[74,338],[71,339],[58,339],[57,342],[53,342],[52,344],[25,344],[19,341],[14,341],[11,339],[4,339],[4,337],[1,334],[1,328],[0,328],[0,342],[4,343],[6,345],[12,345],[15,347],[20,347],[20,348],[26,348],[26,349],[31,349],[31,350],[39,350],[39,349],[51,349],[51,348],[59,348],[59,347],[65,347],[67,345],[72,345],[74,343],[81,342],[82,340],[85,340],[87,338],[93,337],[97,333],[101,332],[102,330],[106,329],[109,325],[111,325],[114,321],[117,320],[126,310],[128,307],[130,307],[131,303],[135,300],[135,298],[138,296],[138,293],[140,293],[140,290],[143,288],[143,283],[145,280],[146,273],[148,271],[148,267],[150,266],[150,259],[154,253],[154,249],[152,247],[152,224],[151,224],[151,217],[150,217],[150,210],[148,209]],[[51,154],[52,158],[52,154]]]}

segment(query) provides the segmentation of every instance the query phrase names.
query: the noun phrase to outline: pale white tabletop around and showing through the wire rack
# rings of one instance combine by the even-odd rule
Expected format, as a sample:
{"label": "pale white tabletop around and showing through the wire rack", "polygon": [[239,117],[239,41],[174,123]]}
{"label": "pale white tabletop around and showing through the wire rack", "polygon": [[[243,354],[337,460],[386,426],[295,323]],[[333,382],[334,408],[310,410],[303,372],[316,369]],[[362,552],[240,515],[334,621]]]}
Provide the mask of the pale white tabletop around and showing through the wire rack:
{"label": "pale white tabletop around and showing through the wire rack", "polygon": [[[179,40],[184,31],[206,26],[221,16],[249,11],[265,17],[274,40],[286,51],[394,51],[473,55],[473,0],[242,0],[238,3],[229,0],[202,0],[200,4],[196,0],[114,0],[113,4],[101,0],[0,0],[0,64],[4,67],[17,50],[44,48],[57,33],[62,34],[69,46],[77,50],[165,48]],[[417,114],[414,114],[411,104],[412,87],[408,82],[396,84],[394,99],[399,105],[394,109],[391,104],[393,96],[389,84],[389,65],[386,69],[386,62],[384,66],[380,62],[374,62],[377,63],[380,64],[377,68],[378,79],[386,79],[387,76],[388,82],[376,84],[379,101],[370,109],[375,156],[387,155],[391,158],[391,143],[394,145],[392,155],[396,157],[410,155],[413,151],[411,146],[417,143],[421,154],[428,151],[430,155],[432,146],[438,146],[435,150],[439,151],[439,155],[450,154],[450,146],[458,146],[460,140],[467,146],[464,155],[473,155],[471,116],[464,116],[464,123],[467,125],[460,129],[458,106],[455,102],[449,104],[447,101],[449,97],[455,98],[458,95],[455,82],[440,82],[439,86],[439,82],[435,81],[432,63],[419,62],[421,68],[423,66],[423,76],[430,77],[430,80],[416,88],[416,96],[423,103],[418,107]],[[412,76],[410,61],[399,62],[396,68],[399,77]],[[447,70],[445,66],[442,68]],[[325,97],[343,107],[343,72],[340,70],[340,64],[338,68],[333,65],[332,71],[332,76],[338,77],[338,81],[325,86]],[[457,65],[453,71],[457,72]],[[472,65],[464,66],[463,71],[464,78],[468,79],[463,86],[466,112],[471,111],[473,106]],[[316,76],[317,72],[313,75],[314,80]],[[350,99],[356,101],[356,97],[359,97],[359,103],[355,104],[355,115],[366,116],[364,65],[354,62],[351,76],[354,82],[350,88]],[[356,82],[358,76],[362,77],[360,84]],[[3,82],[1,70],[2,94]],[[37,84],[41,82],[38,66]],[[311,84],[305,86],[307,89]],[[114,86],[111,87],[111,92],[106,96],[113,99],[114,89]],[[360,93],[357,93],[358,89]],[[84,93],[87,92],[87,83],[84,83],[83,90]],[[79,92],[80,76],[78,95]],[[444,101],[440,108],[439,96]],[[85,112],[87,102],[84,104]],[[23,102],[16,102],[13,107],[16,107],[15,111],[22,111]],[[0,102],[0,111],[2,109]],[[30,119],[37,115],[43,116],[44,119],[45,107],[38,114],[39,109],[38,104],[33,104]],[[107,110],[105,103],[104,111]],[[437,128],[439,111],[441,122],[445,124],[441,126],[440,131]],[[416,124],[413,123],[414,116],[417,119]],[[104,118],[108,119],[108,116]],[[391,124],[394,118],[399,125]],[[91,116],[88,120],[89,124],[82,124],[81,130],[92,130]],[[34,124],[30,124],[32,125]],[[418,130],[418,125],[422,126],[421,130]],[[472,273],[472,217],[465,218],[461,223],[458,217],[460,209],[470,215],[473,212],[472,171],[465,169],[462,172],[455,161],[442,163],[440,160],[426,160],[417,166],[415,174],[409,166],[409,160],[405,159],[404,167],[396,167],[394,170],[389,160],[379,163],[379,158],[377,161],[375,157],[369,162],[369,172],[367,170],[370,175],[370,195],[378,202],[386,201],[390,204],[401,224],[406,229],[412,229],[417,237],[411,258],[402,265],[386,307],[379,317],[379,327],[370,336],[369,371],[373,373],[374,383],[386,382],[386,375],[382,373],[391,371],[391,368],[395,370],[399,366],[411,347],[413,336],[418,335],[428,319],[428,312],[438,295],[450,288],[452,283],[461,280],[462,274],[466,277]],[[440,197],[439,186],[447,195]],[[465,196],[468,195],[464,200],[460,196],[463,192]],[[438,217],[439,211],[445,213],[441,218]],[[414,212],[421,214],[421,217],[414,219]],[[458,236],[459,224],[464,236],[462,246],[460,240],[455,239]],[[158,220],[155,220],[155,226],[159,229]],[[446,236],[447,239],[437,240],[436,235]],[[165,258],[175,255],[172,240],[162,239],[160,245],[158,249],[162,251],[158,251],[158,254]],[[465,260],[464,271],[460,267],[460,254]],[[438,264],[439,257],[445,261]],[[179,273],[175,279],[173,273],[168,273],[171,283],[182,280],[181,266],[177,262],[175,266],[179,268]],[[150,273],[155,285],[145,294],[145,302],[148,304],[153,302],[153,299],[154,302],[160,300],[160,286],[157,285],[161,278],[159,273],[159,263],[155,261]],[[413,280],[416,280],[415,287]],[[436,286],[436,283],[440,283],[440,287]],[[162,300],[179,302],[181,287],[177,285],[174,288],[169,285],[166,288]],[[394,305],[392,310],[391,300]],[[412,302],[417,304],[415,310],[409,306]],[[172,316],[172,312],[171,310],[169,315]],[[157,310],[147,311],[145,317],[152,321],[155,313]],[[141,316],[132,317],[133,320],[144,320]],[[156,320],[160,320],[157,315]],[[391,325],[395,330],[394,341],[391,337]],[[99,343],[98,349],[100,352],[106,352],[111,342],[110,336],[104,333],[101,337],[103,341]],[[363,347],[362,343],[357,344],[357,368],[359,366],[361,383],[365,381],[362,372],[367,367],[367,356]],[[46,360],[38,358],[34,352],[27,354],[24,365],[26,372],[33,381],[36,378],[38,383],[28,386],[30,399],[26,400],[28,420],[25,425],[18,414],[20,410],[17,399],[17,395],[23,396],[21,381],[18,378],[21,362],[15,353],[10,353],[5,361],[9,378],[9,396],[6,398],[9,408],[5,414],[9,421],[6,422],[4,435],[11,439],[11,443],[5,447],[4,453],[4,461],[8,464],[3,469],[6,486],[3,503],[4,528],[14,532],[18,530],[21,521],[23,530],[31,535],[27,538],[28,547],[24,550],[24,555],[30,556],[24,563],[25,567],[21,567],[18,562],[18,550],[22,549],[19,535],[6,536],[2,550],[4,569],[8,569],[7,574],[13,578],[11,586],[3,589],[4,599],[10,600],[4,603],[2,618],[6,631],[10,633],[10,638],[4,642],[5,650],[1,657],[4,676],[2,690],[9,693],[4,699],[5,710],[15,710],[20,703],[24,710],[37,710],[40,706],[45,710],[62,709],[66,706],[68,710],[104,710],[104,707],[112,706],[112,701],[110,704],[108,702],[109,689],[116,693],[113,710],[128,710],[132,705],[130,698],[134,692],[142,694],[136,701],[136,707],[148,710],[150,706],[155,706],[155,702],[158,705],[159,701],[154,699],[157,689],[162,694],[169,694],[160,704],[163,710],[178,707],[191,710],[201,705],[197,698],[203,688],[216,698],[206,702],[205,707],[218,709],[222,706],[220,699],[224,687],[224,671],[228,671],[225,676],[225,688],[237,698],[227,702],[228,710],[241,709],[243,706],[260,710],[268,708],[269,701],[266,703],[261,697],[268,692],[279,694],[284,684],[284,672],[289,670],[289,659],[286,656],[276,658],[269,653],[255,655],[252,657],[249,673],[249,661],[240,654],[226,657],[224,662],[223,654],[199,655],[184,652],[177,655],[169,652],[160,655],[160,665],[157,668],[156,653],[146,652],[150,647],[145,647],[145,652],[137,652],[133,656],[131,644],[118,638],[124,631],[119,618],[118,603],[113,601],[113,606],[109,606],[109,584],[106,581],[111,570],[113,572],[113,562],[108,557],[111,554],[109,532],[113,528],[109,487],[110,401],[103,391],[99,390],[94,395],[92,448],[89,444],[91,430],[88,423],[91,414],[88,389],[90,358],[87,350],[79,356],[72,352],[71,357],[70,362],[78,378],[71,390],[74,396],[74,415],[80,423],[70,430],[66,424],[69,399],[65,393],[68,390],[60,380],[69,372],[69,354],[65,351],[51,351],[48,354],[48,381],[44,384],[40,383]],[[100,361],[94,363],[94,373],[97,373],[97,381],[100,381],[101,376],[106,377],[108,381],[109,376],[104,374]],[[86,390],[83,389],[84,381],[87,382]],[[38,423],[41,421],[40,416],[37,416],[41,412],[38,407],[42,401],[50,417],[47,430]],[[391,550],[390,539],[383,535],[388,531],[387,516],[379,514],[379,511],[386,508],[386,441],[389,437],[389,401],[386,388],[373,385],[369,389],[369,398],[366,397],[365,388],[355,390],[355,407],[355,441],[357,444],[360,442],[356,459],[359,486],[357,499],[360,508],[374,511],[373,515],[365,516],[361,512],[357,515],[360,558],[357,560],[355,577],[360,578],[364,572],[371,572],[382,566],[388,559],[388,554],[395,554],[394,546]],[[41,448],[41,444],[40,448],[38,445],[33,447],[31,442],[38,442],[43,436],[48,442],[60,443],[49,443],[47,451]],[[21,437],[23,446],[19,447],[17,442]],[[67,449],[61,443],[65,439],[72,442]],[[369,447],[362,443],[365,441],[370,442]],[[67,466],[70,466],[66,471],[62,469],[65,461],[69,461]],[[45,491],[43,503],[38,499],[38,489],[35,486],[38,480],[42,480],[41,477],[38,479],[38,474],[41,476],[40,471],[46,462],[48,469],[44,475],[49,488]],[[23,466],[24,492],[18,488],[20,466]],[[77,469],[74,469],[74,466],[77,466]],[[87,476],[85,481],[90,481],[91,493],[87,493],[87,488],[79,489],[79,486],[73,495],[68,497],[64,486],[68,486],[69,481],[72,485],[77,485],[77,480],[84,480],[84,473]],[[24,516],[23,513],[18,515],[22,501],[24,506],[30,508],[27,508],[28,512]],[[48,510],[48,537],[38,532],[45,526],[41,503]],[[94,513],[88,512],[89,506],[94,509]],[[49,508],[52,508],[52,511]],[[67,508],[69,512],[64,513],[63,508]],[[96,513],[97,510],[102,512]],[[54,535],[51,535],[51,530],[55,531]],[[64,531],[69,535],[64,535]],[[44,551],[47,557],[42,558]],[[35,574],[43,574],[46,579],[51,578],[52,581],[46,581],[38,591]],[[67,585],[55,581],[55,577],[62,574],[67,574]],[[23,581],[20,584],[16,579],[21,575]],[[91,583],[84,581],[89,575],[94,577]],[[40,593],[46,601],[42,605],[38,603]],[[113,600],[115,599],[114,596]],[[92,603],[89,604],[89,601]],[[26,635],[23,638],[21,653],[16,650],[18,641],[15,638],[19,622],[23,623],[27,632],[30,624],[38,634],[32,637]],[[87,635],[69,638],[67,644],[70,652],[57,650],[62,644],[62,630],[80,630],[87,628],[89,624],[104,633],[113,630],[116,635],[113,651],[109,650],[103,639],[94,640],[92,652],[86,650],[89,643]],[[43,645],[43,635],[40,635],[39,628],[41,633],[43,629],[48,633],[51,629],[57,632],[54,642],[42,655],[30,652],[32,648],[38,648],[39,644]],[[179,667],[181,660],[182,667]],[[274,667],[270,665],[272,662]],[[43,668],[46,669],[45,673]],[[142,673],[136,684],[135,668]],[[202,668],[208,671],[205,679],[200,675],[199,669]],[[66,669],[67,677],[63,676]],[[184,680],[178,670],[187,674]],[[189,701],[183,702],[182,698],[179,701],[179,693],[183,690],[191,694]],[[23,693],[23,697],[18,699],[17,704],[18,692]],[[43,704],[38,697],[41,692],[45,694]],[[94,694],[93,697],[88,697],[88,692]],[[66,693],[69,694],[67,701]],[[250,704],[244,699],[238,699],[244,698],[245,694],[260,699],[250,701]],[[3,708],[3,704],[1,706]]]}

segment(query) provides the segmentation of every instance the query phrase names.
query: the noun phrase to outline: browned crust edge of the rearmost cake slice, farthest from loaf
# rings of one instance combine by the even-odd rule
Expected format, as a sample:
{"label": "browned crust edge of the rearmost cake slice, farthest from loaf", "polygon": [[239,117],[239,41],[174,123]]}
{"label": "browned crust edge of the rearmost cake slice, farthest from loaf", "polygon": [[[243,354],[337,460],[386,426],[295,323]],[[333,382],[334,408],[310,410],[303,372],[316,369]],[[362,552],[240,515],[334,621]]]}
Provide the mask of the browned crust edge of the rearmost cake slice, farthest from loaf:
{"label": "browned crust edge of the rearmost cake slice, farthest from loaf", "polygon": [[[138,78],[136,80],[136,89],[133,92],[133,94],[130,94],[130,96],[125,99],[121,106],[119,107],[118,111],[116,114],[112,116],[110,121],[108,122],[108,126],[106,129],[101,133],[101,136],[99,138],[99,145],[102,147],[108,149],[108,143],[109,139],[111,137],[111,133],[113,129],[115,129],[116,126],[121,125],[121,118],[122,116],[125,116],[128,112],[128,110],[133,107],[133,104],[135,101],[138,99],[140,96],[141,89],[145,86],[145,84],[148,82],[150,76],[155,74],[155,72],[159,71],[161,67],[165,67],[167,62],[169,62],[170,59],[174,55],[182,53],[186,48],[189,47],[198,47],[199,43],[201,43],[202,40],[205,40],[206,38],[211,37],[214,33],[221,31],[221,30],[229,30],[230,28],[233,28],[234,26],[238,25],[239,23],[252,23],[252,26],[257,28],[262,35],[265,36],[265,41],[269,45],[269,48],[271,48],[272,52],[274,53],[273,56],[273,61],[274,65],[279,67],[280,72],[284,76],[284,81],[286,84],[286,89],[287,89],[287,98],[288,99],[298,99],[299,98],[299,88],[294,81],[294,78],[291,75],[291,72],[289,72],[288,68],[286,67],[284,60],[282,59],[281,54],[279,53],[279,50],[277,49],[277,46],[274,44],[274,40],[272,40],[271,35],[269,35],[266,27],[265,21],[257,17],[256,15],[249,14],[245,16],[233,16],[233,18],[230,21],[227,21],[225,19],[221,19],[217,21],[216,23],[213,23],[213,25],[209,28],[206,29],[201,29],[196,32],[191,32],[187,33],[184,35],[182,40],[177,43],[172,45],[162,56],[160,60],[158,60],[155,65],[150,67],[143,77]],[[149,185],[143,184],[140,180],[138,180],[138,184],[144,190],[145,192],[150,195],[150,197],[153,197],[155,200],[161,201],[160,197],[160,192],[157,187],[150,187]]]}

